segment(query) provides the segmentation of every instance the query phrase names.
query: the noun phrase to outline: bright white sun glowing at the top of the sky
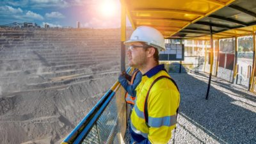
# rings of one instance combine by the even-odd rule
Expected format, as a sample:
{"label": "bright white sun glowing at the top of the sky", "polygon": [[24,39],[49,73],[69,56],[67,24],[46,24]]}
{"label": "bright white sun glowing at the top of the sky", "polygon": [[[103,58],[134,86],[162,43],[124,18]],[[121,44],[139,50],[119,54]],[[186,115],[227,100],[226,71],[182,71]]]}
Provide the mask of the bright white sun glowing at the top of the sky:
{"label": "bright white sun glowing at the top of the sky", "polygon": [[113,0],[104,0],[100,5],[100,13],[105,17],[112,17],[115,15],[117,4]]}

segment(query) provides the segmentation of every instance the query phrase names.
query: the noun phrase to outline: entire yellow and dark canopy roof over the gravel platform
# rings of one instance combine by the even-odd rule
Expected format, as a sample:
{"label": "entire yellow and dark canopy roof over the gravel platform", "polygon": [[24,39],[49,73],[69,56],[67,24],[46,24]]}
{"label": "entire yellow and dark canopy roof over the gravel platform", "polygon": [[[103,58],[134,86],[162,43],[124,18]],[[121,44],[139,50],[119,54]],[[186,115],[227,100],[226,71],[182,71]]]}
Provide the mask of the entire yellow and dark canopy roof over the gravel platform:
{"label": "entire yellow and dark canopy roof over the gravel platform", "polygon": [[209,39],[255,31],[256,0],[121,0],[135,29],[152,26],[165,38]]}

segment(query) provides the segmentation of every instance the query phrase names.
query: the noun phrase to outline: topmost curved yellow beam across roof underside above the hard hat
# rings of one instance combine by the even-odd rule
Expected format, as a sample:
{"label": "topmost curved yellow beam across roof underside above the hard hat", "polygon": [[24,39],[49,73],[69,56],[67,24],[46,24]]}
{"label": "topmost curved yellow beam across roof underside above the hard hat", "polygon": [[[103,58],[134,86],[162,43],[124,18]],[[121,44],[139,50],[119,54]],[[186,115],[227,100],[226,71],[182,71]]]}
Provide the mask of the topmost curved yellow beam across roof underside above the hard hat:
{"label": "topmost curved yellow beam across roof underside above the hard hat", "polygon": [[189,12],[184,10],[172,10],[172,9],[158,9],[158,8],[140,8],[136,10],[132,10],[132,12],[166,12],[166,13],[184,13],[189,15],[199,15],[204,16],[204,13],[198,13],[198,12]]}

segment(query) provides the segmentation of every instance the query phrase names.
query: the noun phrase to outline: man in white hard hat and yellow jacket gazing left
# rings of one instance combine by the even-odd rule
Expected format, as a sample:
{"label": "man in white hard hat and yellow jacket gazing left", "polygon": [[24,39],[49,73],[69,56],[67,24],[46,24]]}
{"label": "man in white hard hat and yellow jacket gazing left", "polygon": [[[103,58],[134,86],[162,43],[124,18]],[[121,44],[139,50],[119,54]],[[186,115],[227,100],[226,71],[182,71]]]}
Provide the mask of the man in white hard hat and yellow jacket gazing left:
{"label": "man in white hard hat and yellow jacket gazing left", "polygon": [[[129,45],[130,65],[143,74],[131,114],[132,139],[134,143],[168,143],[176,126],[180,93],[158,62],[158,52],[166,50],[163,35],[154,28],[140,26],[124,44]],[[155,81],[161,76],[167,78]]]}

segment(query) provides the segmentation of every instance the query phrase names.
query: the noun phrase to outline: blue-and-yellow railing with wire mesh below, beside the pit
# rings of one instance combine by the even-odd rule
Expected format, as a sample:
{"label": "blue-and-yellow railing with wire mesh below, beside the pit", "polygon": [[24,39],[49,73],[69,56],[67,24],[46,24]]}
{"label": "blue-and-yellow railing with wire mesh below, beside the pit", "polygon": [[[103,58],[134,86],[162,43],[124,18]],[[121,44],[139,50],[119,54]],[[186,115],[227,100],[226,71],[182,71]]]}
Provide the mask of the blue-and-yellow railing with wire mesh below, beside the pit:
{"label": "blue-and-yellow railing with wire mesh below, beside the pit", "polygon": [[126,109],[122,106],[125,103],[120,102],[122,97],[118,97],[121,90],[116,81],[61,144],[120,143],[124,140]]}

